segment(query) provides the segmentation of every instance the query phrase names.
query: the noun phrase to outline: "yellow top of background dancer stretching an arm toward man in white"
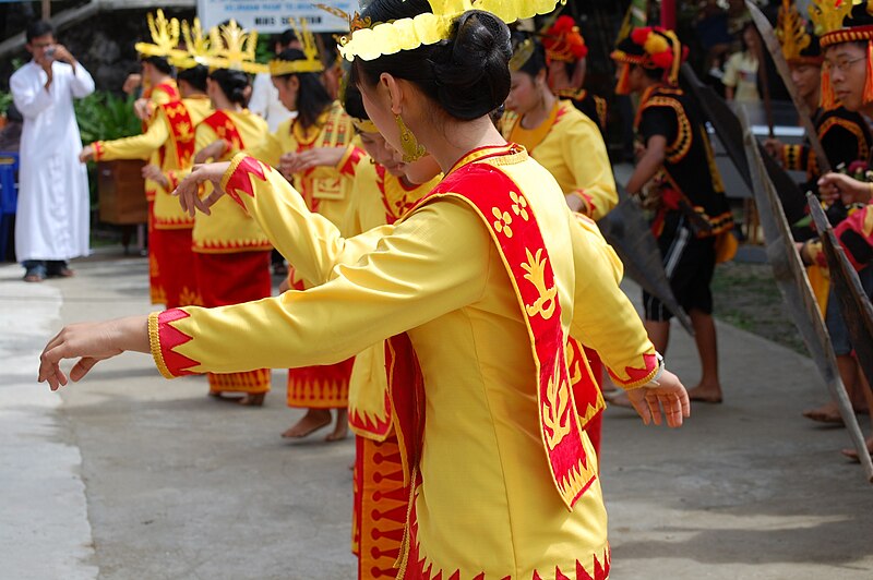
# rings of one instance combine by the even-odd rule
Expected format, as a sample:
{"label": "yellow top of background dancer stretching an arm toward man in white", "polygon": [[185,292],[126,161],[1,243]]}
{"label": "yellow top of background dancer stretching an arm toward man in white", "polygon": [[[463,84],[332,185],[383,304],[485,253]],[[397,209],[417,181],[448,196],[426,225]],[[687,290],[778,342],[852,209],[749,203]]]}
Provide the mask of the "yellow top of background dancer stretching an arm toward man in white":
{"label": "yellow top of background dancer stretching an arm toward man in white", "polygon": [[194,219],[182,210],[179,200],[170,195],[178,184],[180,171],[191,168],[194,150],[194,128],[212,112],[206,96],[195,96],[157,107],[145,133],[116,141],[97,141],[94,159],[152,159],[156,156],[170,185],[165,190],[155,183],[154,219],[157,229],[192,228]]}

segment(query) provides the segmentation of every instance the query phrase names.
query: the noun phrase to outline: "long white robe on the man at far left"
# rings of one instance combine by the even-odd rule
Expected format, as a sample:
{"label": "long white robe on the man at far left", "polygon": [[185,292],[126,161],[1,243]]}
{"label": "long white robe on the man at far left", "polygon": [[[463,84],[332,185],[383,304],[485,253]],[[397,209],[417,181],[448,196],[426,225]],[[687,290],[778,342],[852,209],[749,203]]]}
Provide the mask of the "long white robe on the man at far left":
{"label": "long white robe on the man at far left", "polygon": [[70,259],[88,254],[88,177],[79,161],[82,140],[73,99],[94,92],[91,74],[76,63],[55,62],[51,85],[31,61],[9,80],[24,116],[15,218],[15,254],[25,259]]}

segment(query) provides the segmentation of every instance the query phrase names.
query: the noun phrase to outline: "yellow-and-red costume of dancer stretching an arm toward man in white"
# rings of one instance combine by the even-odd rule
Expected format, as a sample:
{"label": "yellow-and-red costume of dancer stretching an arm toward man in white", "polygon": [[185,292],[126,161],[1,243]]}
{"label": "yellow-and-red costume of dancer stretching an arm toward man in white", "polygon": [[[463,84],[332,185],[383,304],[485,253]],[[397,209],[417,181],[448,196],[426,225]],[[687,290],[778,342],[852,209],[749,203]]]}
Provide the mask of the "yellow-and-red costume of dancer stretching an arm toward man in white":
{"label": "yellow-and-red costume of dancer stretching an arm toward man in white", "polygon": [[186,214],[179,201],[170,195],[178,184],[180,171],[191,167],[194,156],[194,128],[212,112],[208,98],[193,97],[159,105],[145,133],[117,141],[92,144],[94,159],[156,158],[170,181],[165,190],[154,183],[150,218],[150,240],[155,256],[167,307],[198,304],[194,256],[191,252],[191,229],[194,219]]}

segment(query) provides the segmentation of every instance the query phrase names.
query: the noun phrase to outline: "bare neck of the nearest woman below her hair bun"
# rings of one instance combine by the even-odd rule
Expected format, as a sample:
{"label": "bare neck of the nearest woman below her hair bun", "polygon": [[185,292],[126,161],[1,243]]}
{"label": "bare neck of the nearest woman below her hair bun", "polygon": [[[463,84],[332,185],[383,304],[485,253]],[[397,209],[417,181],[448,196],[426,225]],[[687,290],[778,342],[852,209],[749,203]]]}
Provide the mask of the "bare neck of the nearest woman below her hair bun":
{"label": "bare neck of the nearest woman below her hair bun", "polygon": [[428,123],[419,132],[416,137],[433,155],[443,173],[474,149],[506,145],[506,140],[488,117],[446,124]]}

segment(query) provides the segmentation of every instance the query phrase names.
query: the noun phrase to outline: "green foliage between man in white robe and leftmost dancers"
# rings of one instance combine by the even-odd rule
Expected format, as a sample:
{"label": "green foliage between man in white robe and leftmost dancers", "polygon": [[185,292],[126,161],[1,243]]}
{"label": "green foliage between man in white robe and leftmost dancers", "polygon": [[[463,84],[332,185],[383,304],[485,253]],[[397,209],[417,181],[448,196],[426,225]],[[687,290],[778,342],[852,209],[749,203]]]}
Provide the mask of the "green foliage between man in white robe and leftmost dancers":
{"label": "green foliage between man in white robe and leftmost dancers", "polygon": [[95,92],[75,101],[75,117],[82,143],[129,137],[142,132],[142,123],[133,113],[133,97],[119,97]]}

